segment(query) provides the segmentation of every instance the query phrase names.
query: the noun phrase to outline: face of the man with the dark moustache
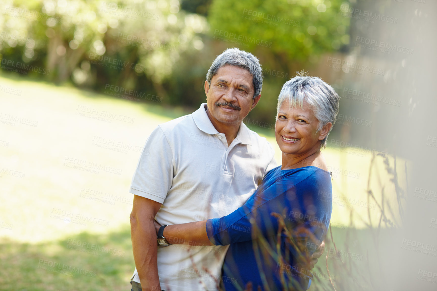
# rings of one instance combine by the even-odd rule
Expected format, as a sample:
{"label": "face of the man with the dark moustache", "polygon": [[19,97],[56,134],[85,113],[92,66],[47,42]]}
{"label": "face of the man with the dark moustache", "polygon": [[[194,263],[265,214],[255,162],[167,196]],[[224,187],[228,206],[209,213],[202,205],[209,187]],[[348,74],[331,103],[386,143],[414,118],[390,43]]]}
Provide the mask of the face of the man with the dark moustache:
{"label": "face of the man with the dark moustache", "polygon": [[222,66],[212,77],[211,86],[205,81],[206,103],[213,124],[239,124],[260,100],[253,99],[253,82],[249,71],[238,66]]}

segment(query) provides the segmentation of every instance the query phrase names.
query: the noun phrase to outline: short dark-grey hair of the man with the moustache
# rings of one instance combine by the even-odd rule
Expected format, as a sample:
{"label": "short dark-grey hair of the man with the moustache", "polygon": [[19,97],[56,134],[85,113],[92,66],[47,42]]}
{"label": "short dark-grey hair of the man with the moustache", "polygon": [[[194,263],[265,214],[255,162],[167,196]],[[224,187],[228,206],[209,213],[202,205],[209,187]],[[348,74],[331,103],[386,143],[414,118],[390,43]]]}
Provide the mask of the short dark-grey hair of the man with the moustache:
{"label": "short dark-grey hair of the man with the moustache", "polygon": [[253,99],[261,94],[261,90],[263,89],[263,71],[261,69],[260,60],[250,52],[242,51],[237,48],[225,50],[212,62],[206,74],[206,81],[209,86],[211,86],[212,77],[217,74],[218,69],[226,65],[238,66],[248,70],[250,75],[252,75],[253,89],[255,90]]}

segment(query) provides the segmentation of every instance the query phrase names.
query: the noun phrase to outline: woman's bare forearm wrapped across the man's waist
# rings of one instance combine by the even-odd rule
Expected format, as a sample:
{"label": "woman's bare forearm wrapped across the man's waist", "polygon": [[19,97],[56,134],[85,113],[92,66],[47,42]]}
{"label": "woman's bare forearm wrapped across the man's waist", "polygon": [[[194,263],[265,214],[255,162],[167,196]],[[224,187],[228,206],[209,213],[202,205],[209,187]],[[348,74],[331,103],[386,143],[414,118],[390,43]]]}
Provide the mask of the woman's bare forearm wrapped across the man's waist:
{"label": "woman's bare forearm wrapped across the man's waist", "polygon": [[[161,225],[155,221],[156,233]],[[164,228],[163,236],[168,243],[189,246],[213,246],[206,233],[206,220],[183,224],[169,225]]]}

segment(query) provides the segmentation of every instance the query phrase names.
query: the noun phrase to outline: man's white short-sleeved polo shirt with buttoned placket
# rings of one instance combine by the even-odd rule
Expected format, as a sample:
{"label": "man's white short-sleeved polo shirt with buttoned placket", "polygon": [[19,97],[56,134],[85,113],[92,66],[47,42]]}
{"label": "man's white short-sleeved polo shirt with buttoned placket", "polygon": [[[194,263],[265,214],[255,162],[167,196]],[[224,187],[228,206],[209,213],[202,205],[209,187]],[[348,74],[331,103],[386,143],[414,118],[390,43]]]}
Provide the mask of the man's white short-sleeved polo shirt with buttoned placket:
{"label": "man's white short-sleeved polo shirt with buttoned placket", "polygon": [[[228,215],[242,206],[264,175],[277,166],[271,144],[244,123],[228,146],[206,108],[203,103],[192,114],[159,125],[144,146],[129,192],[162,203],[156,214],[161,225]],[[161,288],[201,291],[205,284],[208,290],[218,290],[227,249],[158,246]],[[136,269],[133,281],[140,283]]]}

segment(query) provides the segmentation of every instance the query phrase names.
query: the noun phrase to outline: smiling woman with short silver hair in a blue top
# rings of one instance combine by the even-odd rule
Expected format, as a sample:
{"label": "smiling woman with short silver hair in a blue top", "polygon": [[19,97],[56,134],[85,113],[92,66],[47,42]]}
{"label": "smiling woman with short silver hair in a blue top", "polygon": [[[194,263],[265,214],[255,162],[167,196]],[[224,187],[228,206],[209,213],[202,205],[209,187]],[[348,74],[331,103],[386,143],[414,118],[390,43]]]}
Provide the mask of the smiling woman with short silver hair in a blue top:
{"label": "smiling woman with short silver hair in a blue top", "polygon": [[220,278],[225,291],[308,289],[309,257],[326,236],[332,212],[331,177],[320,149],[326,146],[339,99],[317,77],[299,74],[284,83],[275,125],[282,165],[268,172],[231,214],[156,225],[159,236],[168,243],[229,245]]}

